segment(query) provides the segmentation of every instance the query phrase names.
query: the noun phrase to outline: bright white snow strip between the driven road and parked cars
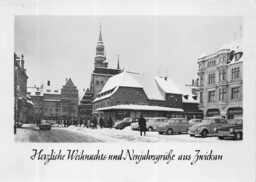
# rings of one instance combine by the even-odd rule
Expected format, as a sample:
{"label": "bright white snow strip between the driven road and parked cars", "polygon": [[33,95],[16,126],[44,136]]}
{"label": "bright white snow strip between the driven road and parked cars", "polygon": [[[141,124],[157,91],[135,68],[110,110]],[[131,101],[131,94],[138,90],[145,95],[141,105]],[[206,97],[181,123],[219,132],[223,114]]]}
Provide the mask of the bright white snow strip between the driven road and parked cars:
{"label": "bright white snow strip between the driven road and parked cars", "polygon": [[220,140],[218,137],[190,137],[186,133],[173,135],[160,135],[158,132],[146,132],[146,137],[140,136],[140,132],[131,130],[131,126],[127,126],[124,130],[116,130],[115,128],[100,128],[97,130],[91,128],[83,128],[79,126],[69,126],[67,130],[72,130],[73,132],[86,133],[90,135],[103,135],[108,137],[113,137],[115,139],[123,139],[132,142],[241,142],[234,141],[231,139]]}

